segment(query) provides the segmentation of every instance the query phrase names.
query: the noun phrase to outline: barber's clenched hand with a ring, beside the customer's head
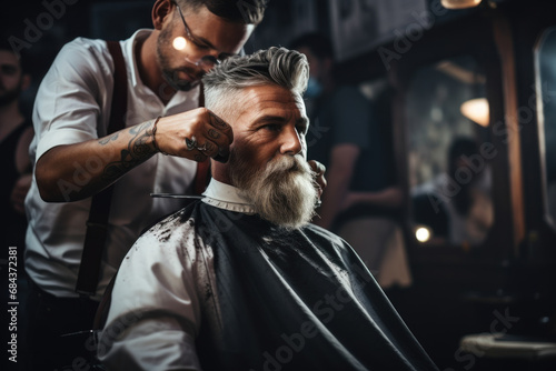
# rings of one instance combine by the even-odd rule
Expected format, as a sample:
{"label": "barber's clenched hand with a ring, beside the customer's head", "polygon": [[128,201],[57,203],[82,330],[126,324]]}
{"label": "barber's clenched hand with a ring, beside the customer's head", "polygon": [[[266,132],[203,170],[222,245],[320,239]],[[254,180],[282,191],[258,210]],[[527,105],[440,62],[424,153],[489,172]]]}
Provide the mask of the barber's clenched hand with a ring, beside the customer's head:
{"label": "barber's clenched hand with a ring, beside the customer's head", "polygon": [[155,140],[160,152],[195,161],[228,161],[231,127],[206,108],[161,118]]}

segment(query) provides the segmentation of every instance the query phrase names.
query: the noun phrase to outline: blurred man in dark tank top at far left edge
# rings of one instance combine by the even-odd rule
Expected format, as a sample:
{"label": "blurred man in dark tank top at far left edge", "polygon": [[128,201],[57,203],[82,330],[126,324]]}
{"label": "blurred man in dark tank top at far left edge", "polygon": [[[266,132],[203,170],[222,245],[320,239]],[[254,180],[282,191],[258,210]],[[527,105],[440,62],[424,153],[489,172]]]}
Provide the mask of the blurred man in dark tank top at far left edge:
{"label": "blurred man in dark tank top at far left edge", "polygon": [[[29,112],[24,111],[21,102],[21,94],[29,88],[31,76],[27,66],[23,66],[26,58],[13,52],[4,40],[2,38],[0,41],[0,169],[2,169],[0,282],[2,297],[6,299],[2,313],[7,313],[9,308],[4,307],[8,302],[19,302],[19,310],[23,310],[26,304],[24,292],[28,285],[23,269],[27,229],[24,199],[32,179],[29,144],[33,137]],[[17,251],[16,255],[11,254],[13,251]],[[13,257],[17,257],[17,260],[13,260]],[[17,290],[16,297],[10,297],[10,289],[13,287]],[[20,344],[24,343],[24,321],[18,322],[17,335]],[[2,333],[6,344],[10,340],[8,337],[11,332]],[[27,358],[24,350],[20,347],[18,353],[18,365],[23,369]]]}

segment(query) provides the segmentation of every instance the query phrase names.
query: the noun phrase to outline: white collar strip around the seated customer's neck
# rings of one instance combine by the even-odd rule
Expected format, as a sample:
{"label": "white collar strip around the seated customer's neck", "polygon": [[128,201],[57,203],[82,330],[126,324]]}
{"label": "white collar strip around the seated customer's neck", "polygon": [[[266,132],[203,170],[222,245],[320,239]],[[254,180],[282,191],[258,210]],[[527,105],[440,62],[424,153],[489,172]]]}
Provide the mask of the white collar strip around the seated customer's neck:
{"label": "white collar strip around the seated customer's neck", "polygon": [[254,214],[252,205],[241,197],[239,188],[211,179],[207,190],[202,193],[202,202],[219,209]]}

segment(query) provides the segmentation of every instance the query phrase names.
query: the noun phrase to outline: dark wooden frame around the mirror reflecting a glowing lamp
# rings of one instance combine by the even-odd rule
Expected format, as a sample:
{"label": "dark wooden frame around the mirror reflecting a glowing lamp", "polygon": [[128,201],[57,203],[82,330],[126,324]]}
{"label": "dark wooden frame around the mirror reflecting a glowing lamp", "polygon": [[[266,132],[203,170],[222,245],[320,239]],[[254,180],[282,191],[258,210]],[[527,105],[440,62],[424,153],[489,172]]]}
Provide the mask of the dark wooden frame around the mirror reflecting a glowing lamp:
{"label": "dark wooden frame around the mirror reflecting a glowing lamp", "polygon": [[[486,76],[486,98],[490,106],[490,126],[492,143],[497,150],[497,156],[490,161],[493,170],[493,204],[495,220],[490,228],[487,238],[477,248],[473,249],[473,253],[463,249],[447,249],[441,245],[423,245],[420,244],[409,229],[410,207],[407,204],[406,215],[406,238],[410,257],[416,261],[427,263],[433,261],[443,262],[446,260],[453,262],[463,262],[467,259],[480,261],[499,262],[516,254],[518,250],[518,238],[513,233],[507,233],[508,228],[513,228],[515,221],[516,203],[513,198],[515,192],[512,190],[512,169],[520,166],[519,159],[510,158],[510,149],[507,146],[504,133],[510,132],[506,127],[505,114],[507,108],[505,102],[505,91],[503,89],[504,74],[502,71],[502,59],[498,53],[498,44],[495,34],[492,30],[492,20],[485,18],[480,24],[469,27],[468,23],[454,22],[446,28],[456,29],[444,32],[435,32],[428,36],[427,40],[421,40],[415,43],[413,48],[403,56],[396,63],[396,68],[390,70],[391,80],[397,82],[397,94],[394,102],[395,114],[395,132],[397,133],[397,143],[395,148],[398,153],[398,171],[401,183],[406,187],[406,195],[409,194],[409,167],[406,157],[407,153],[407,120],[406,117],[406,91],[410,84],[413,76],[421,68],[434,64],[448,58],[463,54],[471,56],[481,67]],[[461,31],[464,30],[464,31]],[[454,38],[446,39],[445,34],[454,34]],[[495,129],[497,131],[495,131]],[[399,158],[401,157],[401,158]],[[520,189],[517,186],[518,190]],[[519,203],[519,202],[518,202]],[[523,227],[523,225],[522,225]],[[428,252],[425,252],[428,250]],[[447,252],[445,250],[451,250]],[[426,255],[426,257],[425,257]],[[473,257],[471,257],[473,255]],[[429,260],[431,259],[431,260]]]}

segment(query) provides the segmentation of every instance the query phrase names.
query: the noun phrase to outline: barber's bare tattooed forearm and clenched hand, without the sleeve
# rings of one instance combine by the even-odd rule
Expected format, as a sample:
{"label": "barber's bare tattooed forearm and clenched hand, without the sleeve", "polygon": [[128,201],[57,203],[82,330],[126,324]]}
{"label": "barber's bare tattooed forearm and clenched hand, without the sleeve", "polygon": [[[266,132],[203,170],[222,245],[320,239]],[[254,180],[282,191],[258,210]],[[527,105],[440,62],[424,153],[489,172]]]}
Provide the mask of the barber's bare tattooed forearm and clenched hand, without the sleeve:
{"label": "barber's bare tattooed forearm and clenched hand, without the sleeve", "polygon": [[[231,128],[205,108],[146,121],[100,139],[58,146],[40,157],[36,177],[40,194],[50,202],[90,197],[157,152],[195,161],[227,160]],[[188,150],[186,138],[197,140]]]}

